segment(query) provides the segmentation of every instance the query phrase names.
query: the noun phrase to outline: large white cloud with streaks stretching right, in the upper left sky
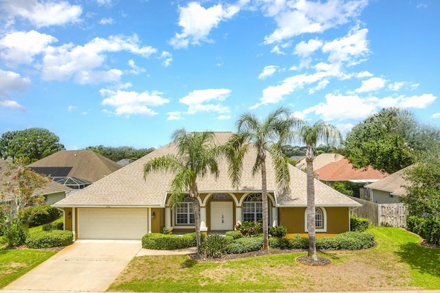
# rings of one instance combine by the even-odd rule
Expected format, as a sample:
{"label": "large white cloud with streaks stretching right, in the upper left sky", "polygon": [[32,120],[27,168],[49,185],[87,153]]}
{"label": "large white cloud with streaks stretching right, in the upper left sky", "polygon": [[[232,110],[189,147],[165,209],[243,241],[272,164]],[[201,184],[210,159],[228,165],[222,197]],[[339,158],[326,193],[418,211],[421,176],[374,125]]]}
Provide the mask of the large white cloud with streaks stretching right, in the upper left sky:
{"label": "large white cloud with streaks stretching right, in the upper left sky", "polygon": [[69,80],[74,77],[81,84],[98,82],[118,82],[122,71],[109,69],[96,70],[102,67],[107,52],[129,51],[131,54],[147,58],[155,54],[157,49],[140,45],[134,36],[109,36],[94,38],[84,46],[72,43],[59,47],[47,47],[43,57],[43,80]]}

